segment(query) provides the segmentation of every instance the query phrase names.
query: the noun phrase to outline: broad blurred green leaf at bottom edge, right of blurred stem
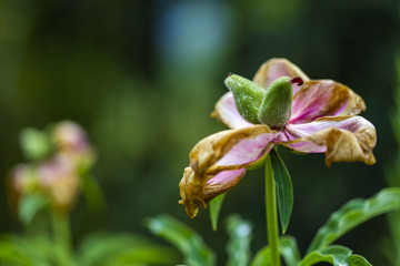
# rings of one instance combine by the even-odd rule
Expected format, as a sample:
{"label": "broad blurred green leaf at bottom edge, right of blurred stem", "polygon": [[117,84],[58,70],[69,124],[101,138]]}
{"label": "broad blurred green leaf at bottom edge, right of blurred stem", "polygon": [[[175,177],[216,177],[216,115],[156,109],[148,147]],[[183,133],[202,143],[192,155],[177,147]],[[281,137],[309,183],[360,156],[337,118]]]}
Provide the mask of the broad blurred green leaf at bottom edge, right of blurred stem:
{"label": "broad blurred green leaf at bottom edge, right of blurred stem", "polygon": [[176,265],[178,253],[137,235],[97,233],[78,248],[77,265]]}

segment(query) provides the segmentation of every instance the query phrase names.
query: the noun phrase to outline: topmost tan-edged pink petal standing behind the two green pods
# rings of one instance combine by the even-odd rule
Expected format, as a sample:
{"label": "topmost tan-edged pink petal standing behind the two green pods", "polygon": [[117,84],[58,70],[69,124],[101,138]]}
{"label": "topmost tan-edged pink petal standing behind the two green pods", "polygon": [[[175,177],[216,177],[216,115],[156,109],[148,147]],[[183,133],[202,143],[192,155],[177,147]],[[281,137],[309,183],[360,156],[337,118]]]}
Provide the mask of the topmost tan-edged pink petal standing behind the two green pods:
{"label": "topmost tan-edged pink petal standing behind the two green pods", "polygon": [[[301,78],[304,82],[309,81],[309,78],[299,69],[299,66],[287,59],[270,59],[259,68],[253,78],[253,82],[267,89],[272,81],[283,75]],[[293,95],[299,89],[299,85],[293,84]]]}

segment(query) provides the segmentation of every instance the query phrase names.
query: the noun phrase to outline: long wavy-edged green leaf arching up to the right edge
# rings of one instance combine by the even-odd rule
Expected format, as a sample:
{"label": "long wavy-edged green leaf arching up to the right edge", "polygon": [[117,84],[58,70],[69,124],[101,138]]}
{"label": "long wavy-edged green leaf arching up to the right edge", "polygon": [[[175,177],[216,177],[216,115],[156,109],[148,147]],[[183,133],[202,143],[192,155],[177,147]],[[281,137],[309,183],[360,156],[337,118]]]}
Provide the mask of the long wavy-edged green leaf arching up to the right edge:
{"label": "long wavy-edged green leaf arching up to the right edge", "polygon": [[368,200],[352,200],[329,217],[327,224],[317,232],[307,253],[327,247],[363,222],[396,209],[400,209],[398,187],[381,190]]}

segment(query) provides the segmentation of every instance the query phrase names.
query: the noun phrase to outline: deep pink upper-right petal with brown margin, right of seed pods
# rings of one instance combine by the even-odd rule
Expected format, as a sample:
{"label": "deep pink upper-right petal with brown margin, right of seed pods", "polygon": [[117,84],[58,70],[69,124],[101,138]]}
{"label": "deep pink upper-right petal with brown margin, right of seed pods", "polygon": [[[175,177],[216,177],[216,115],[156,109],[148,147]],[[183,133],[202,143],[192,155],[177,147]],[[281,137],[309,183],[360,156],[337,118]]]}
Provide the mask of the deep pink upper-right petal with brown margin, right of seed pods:
{"label": "deep pink upper-right petal with brown margin, right of seed pods", "polygon": [[290,123],[304,123],[322,116],[354,115],[366,109],[362,99],[332,80],[306,82],[294,94]]}

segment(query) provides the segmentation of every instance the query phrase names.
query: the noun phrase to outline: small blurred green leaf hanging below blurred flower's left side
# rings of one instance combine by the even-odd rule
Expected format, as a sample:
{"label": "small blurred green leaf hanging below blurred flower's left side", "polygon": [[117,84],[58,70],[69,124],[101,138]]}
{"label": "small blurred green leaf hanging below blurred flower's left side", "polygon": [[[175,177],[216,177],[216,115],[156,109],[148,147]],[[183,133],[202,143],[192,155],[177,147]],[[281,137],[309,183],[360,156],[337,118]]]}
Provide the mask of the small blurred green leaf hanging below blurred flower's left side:
{"label": "small blurred green leaf hanging below blurred flower's left side", "polygon": [[24,226],[49,204],[49,198],[39,193],[23,195],[18,205],[18,216]]}

